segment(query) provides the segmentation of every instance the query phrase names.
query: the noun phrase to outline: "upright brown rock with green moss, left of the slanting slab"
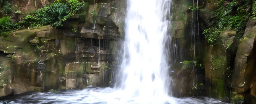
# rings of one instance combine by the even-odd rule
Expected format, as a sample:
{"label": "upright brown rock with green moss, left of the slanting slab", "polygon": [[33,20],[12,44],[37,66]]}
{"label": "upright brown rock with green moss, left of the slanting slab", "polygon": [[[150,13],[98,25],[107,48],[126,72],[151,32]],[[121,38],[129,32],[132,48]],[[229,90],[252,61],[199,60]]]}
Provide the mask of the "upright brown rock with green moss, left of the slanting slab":
{"label": "upright brown rock with green moss, left of the slanting slab", "polygon": [[225,47],[215,45],[205,52],[205,79],[209,95],[213,98],[228,99],[228,79],[230,75],[229,60]]}

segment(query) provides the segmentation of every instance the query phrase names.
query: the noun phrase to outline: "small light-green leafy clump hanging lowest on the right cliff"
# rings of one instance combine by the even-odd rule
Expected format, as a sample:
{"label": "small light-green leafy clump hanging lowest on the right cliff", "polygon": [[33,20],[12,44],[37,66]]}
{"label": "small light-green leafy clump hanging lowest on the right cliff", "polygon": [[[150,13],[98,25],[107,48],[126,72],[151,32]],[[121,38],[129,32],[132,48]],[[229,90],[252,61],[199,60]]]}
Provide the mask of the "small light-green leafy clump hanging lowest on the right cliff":
{"label": "small light-green leafy clump hanging lowest on the right cliff", "polygon": [[205,35],[205,40],[210,43],[210,46],[214,46],[217,44],[220,31],[217,28],[209,28],[205,29],[203,34]]}

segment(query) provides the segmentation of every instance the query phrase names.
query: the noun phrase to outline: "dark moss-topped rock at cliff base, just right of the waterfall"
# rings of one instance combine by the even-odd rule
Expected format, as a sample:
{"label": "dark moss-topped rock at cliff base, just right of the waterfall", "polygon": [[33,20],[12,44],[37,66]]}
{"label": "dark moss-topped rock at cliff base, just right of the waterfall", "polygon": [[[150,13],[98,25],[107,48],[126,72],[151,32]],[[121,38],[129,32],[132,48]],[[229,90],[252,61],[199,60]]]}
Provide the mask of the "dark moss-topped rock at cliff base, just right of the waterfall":
{"label": "dark moss-topped rock at cliff base, just right of the waterfall", "polygon": [[205,94],[202,76],[196,75],[196,67],[192,61],[174,64],[172,69],[173,96],[197,96]]}

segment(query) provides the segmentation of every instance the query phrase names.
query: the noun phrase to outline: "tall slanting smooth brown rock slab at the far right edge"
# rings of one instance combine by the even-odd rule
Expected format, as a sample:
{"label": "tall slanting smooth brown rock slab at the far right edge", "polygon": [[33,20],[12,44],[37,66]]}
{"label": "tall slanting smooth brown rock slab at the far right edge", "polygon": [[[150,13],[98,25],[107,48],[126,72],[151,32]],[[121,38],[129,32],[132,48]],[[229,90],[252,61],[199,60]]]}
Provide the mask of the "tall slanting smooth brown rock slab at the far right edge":
{"label": "tall slanting smooth brown rock slab at the far right edge", "polygon": [[244,39],[240,41],[235,58],[234,74],[232,76],[232,88],[236,93],[247,91],[255,74],[255,37],[256,21],[249,20],[244,34]]}

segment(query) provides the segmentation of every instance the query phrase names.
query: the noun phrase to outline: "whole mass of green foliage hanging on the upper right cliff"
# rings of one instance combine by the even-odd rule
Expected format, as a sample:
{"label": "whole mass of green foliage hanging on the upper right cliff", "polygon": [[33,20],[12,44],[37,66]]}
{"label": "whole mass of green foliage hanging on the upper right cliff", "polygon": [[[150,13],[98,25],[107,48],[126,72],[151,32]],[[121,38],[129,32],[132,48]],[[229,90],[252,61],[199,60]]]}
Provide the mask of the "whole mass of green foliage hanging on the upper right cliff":
{"label": "whole mass of green foliage hanging on the upper right cliff", "polygon": [[[246,10],[249,8],[248,2],[240,2],[233,0],[233,2],[223,6],[223,0],[218,0],[218,8],[214,11],[216,18],[214,20],[214,28],[204,30],[205,39],[211,46],[217,44],[217,39],[220,35],[219,31],[225,31],[226,29],[233,29],[236,31],[236,39],[239,40],[244,34],[246,28],[246,22],[249,19],[250,14],[246,14]],[[256,6],[255,6],[256,8]],[[256,11],[255,11],[256,13]]]}

